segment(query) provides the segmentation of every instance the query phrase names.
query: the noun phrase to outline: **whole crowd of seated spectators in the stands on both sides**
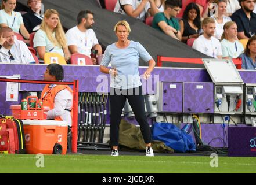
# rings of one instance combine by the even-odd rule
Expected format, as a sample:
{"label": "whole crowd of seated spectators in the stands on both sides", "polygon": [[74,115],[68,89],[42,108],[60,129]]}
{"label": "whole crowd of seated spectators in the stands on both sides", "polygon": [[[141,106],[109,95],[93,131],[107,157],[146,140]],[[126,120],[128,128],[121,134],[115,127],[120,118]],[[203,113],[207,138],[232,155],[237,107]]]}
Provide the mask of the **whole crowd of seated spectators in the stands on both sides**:
{"label": "whole crowd of seated spectators in the stands on both sides", "polygon": [[[30,34],[34,32],[33,47],[41,62],[44,61],[45,53],[49,52],[60,54],[67,64],[72,54],[91,57],[92,51],[97,50],[98,54],[102,55],[102,46],[99,45],[92,29],[93,12],[89,10],[79,12],[77,25],[65,34],[56,10],[48,9],[44,12],[42,0],[28,0],[27,5],[28,12],[21,16],[20,12],[14,11],[16,0],[2,1],[0,27],[2,29],[8,27],[10,28],[8,30],[12,30],[11,35],[14,39],[10,39],[12,42],[9,42],[12,43],[12,47],[18,45],[15,39],[16,33],[21,34],[28,43]],[[256,32],[255,7],[255,0],[118,0],[113,12],[138,18],[144,22],[147,18],[151,18],[153,28],[176,39],[177,42],[190,41],[193,43],[191,45],[193,49],[210,57],[230,59],[240,57],[243,64],[246,64],[248,58],[250,62],[255,62],[255,58],[251,58],[254,57],[251,52],[254,52],[255,40],[248,42],[250,38],[254,38]],[[0,57],[6,58],[2,56],[8,51],[6,44],[2,43],[6,40],[6,33],[1,33]],[[248,42],[247,45],[243,46],[242,41]],[[20,45],[25,46],[23,43]],[[16,56],[16,50],[10,47],[9,51],[13,53],[12,56]],[[23,50],[20,52],[23,53]],[[6,61],[8,62],[1,59],[0,62]],[[92,62],[98,64],[96,58],[92,58]],[[243,65],[243,68],[247,69],[246,66],[252,69],[253,65]]]}

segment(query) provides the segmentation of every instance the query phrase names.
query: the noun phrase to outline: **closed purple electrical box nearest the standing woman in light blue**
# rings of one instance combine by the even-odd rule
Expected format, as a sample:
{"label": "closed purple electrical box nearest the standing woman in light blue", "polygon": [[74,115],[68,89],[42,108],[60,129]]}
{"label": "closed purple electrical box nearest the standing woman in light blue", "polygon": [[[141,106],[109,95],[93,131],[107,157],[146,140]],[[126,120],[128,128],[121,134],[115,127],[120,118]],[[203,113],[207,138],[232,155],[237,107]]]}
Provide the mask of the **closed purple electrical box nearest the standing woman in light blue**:
{"label": "closed purple electrical box nearest the standing woman in light blue", "polygon": [[158,82],[155,95],[158,112],[182,112],[182,82]]}

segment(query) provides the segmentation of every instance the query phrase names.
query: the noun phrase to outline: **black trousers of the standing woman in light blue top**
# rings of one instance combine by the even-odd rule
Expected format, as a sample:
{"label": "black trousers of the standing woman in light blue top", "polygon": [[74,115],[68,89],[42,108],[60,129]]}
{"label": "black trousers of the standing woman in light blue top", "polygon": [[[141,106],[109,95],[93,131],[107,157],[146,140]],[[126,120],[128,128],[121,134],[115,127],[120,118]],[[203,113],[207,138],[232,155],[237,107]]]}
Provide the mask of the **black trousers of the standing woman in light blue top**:
{"label": "black trousers of the standing woman in light blue top", "polygon": [[140,125],[144,142],[151,143],[152,137],[149,124],[147,123],[142,86],[128,90],[110,88],[110,146],[118,146],[119,124],[126,98],[135,114],[135,119]]}

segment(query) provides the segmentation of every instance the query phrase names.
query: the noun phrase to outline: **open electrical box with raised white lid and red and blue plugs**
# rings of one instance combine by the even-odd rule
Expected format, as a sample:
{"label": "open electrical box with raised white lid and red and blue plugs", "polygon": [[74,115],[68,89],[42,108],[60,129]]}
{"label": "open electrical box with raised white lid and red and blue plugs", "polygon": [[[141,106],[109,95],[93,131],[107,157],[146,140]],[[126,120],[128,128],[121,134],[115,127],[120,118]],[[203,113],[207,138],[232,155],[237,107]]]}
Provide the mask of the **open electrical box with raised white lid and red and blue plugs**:
{"label": "open electrical box with raised white lid and red and blue plugs", "polygon": [[214,82],[214,113],[243,114],[243,80],[232,60],[203,59]]}

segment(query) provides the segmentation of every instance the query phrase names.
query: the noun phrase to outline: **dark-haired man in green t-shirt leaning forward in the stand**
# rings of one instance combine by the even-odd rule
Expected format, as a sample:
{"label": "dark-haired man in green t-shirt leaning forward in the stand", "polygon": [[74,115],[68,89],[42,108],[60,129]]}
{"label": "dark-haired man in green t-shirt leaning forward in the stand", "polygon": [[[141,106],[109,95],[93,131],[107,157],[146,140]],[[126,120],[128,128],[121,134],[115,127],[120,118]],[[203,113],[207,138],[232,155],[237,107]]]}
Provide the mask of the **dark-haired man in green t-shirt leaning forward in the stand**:
{"label": "dark-haired man in green t-shirt leaning forward in the stand", "polygon": [[176,16],[182,8],[181,0],[167,0],[164,4],[164,12],[154,15],[152,27],[171,36],[174,39],[181,40],[179,31],[179,22]]}

